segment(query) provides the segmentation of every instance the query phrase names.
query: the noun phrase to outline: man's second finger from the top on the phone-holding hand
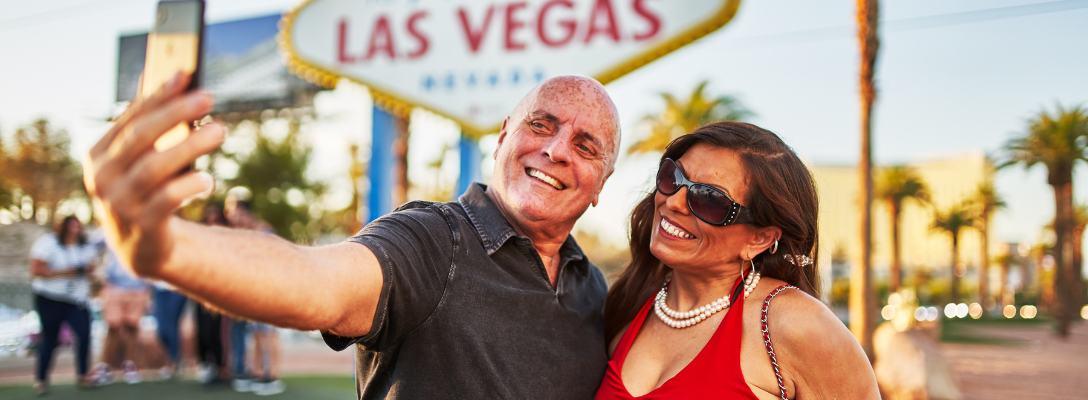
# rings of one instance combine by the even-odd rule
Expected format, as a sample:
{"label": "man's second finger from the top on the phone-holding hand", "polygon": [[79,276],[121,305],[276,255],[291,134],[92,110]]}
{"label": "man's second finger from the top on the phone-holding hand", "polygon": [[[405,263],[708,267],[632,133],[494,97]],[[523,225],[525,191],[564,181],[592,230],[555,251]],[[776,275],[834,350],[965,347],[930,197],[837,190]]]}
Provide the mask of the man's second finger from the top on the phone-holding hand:
{"label": "man's second finger from the top on the phone-holding hand", "polygon": [[188,124],[208,114],[215,102],[211,93],[197,91],[185,95],[148,110],[138,118],[127,124],[121,140],[114,142],[111,153],[115,154],[121,165],[129,165],[140,154],[148,151],[162,134],[177,124]]}

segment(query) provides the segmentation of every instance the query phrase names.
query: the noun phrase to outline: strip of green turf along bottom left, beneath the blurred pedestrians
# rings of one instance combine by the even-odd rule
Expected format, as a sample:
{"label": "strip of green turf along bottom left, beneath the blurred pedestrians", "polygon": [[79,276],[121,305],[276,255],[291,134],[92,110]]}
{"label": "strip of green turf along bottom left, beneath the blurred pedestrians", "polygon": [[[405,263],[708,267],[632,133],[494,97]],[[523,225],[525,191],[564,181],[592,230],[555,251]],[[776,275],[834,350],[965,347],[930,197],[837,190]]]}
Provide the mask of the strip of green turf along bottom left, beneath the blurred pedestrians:
{"label": "strip of green turf along bottom left, beneath the blurred pedestrians", "polygon": [[74,385],[53,385],[49,395],[42,398],[34,396],[29,385],[0,387],[0,399],[81,399],[81,400],[173,400],[173,399],[209,399],[209,400],[256,400],[269,399],[312,399],[344,400],[356,398],[355,382],[350,376],[297,376],[283,378],[287,390],[283,393],[260,397],[254,393],[239,393],[231,390],[230,385],[205,388],[196,380],[175,383],[144,382],[136,385],[114,383],[112,385],[81,390]]}

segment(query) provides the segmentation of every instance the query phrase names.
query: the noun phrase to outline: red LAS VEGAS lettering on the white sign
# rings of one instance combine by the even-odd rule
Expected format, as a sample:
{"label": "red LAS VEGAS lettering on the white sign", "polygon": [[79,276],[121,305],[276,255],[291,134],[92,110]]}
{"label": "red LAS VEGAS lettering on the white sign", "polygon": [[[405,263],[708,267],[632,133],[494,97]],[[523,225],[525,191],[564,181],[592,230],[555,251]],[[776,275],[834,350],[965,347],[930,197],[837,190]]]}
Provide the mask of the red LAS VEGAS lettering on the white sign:
{"label": "red LAS VEGAS lettering on the white sign", "polygon": [[[646,0],[617,1],[620,7],[629,5],[634,15],[642,20],[642,28],[632,32],[622,32],[617,22],[616,5],[613,0],[596,0],[590,14],[583,18],[574,15],[574,3],[570,0],[552,0],[543,5],[535,13],[527,10],[527,2],[512,2],[505,5],[492,4],[483,15],[470,15],[465,8],[457,10],[457,26],[461,28],[466,45],[469,51],[477,53],[483,45],[483,39],[492,26],[492,20],[496,13],[500,13],[500,24],[503,24],[503,49],[506,51],[526,50],[529,45],[521,39],[522,30],[535,26],[535,38],[541,45],[549,48],[559,48],[570,43],[589,45],[594,40],[607,39],[620,42],[625,39],[634,41],[645,41],[654,39],[660,33],[662,18],[652,10],[647,9]],[[526,16],[535,16],[535,20],[526,20]],[[398,49],[396,43],[399,39],[394,37],[391,28],[391,17],[379,14],[370,28],[367,37],[367,47],[363,52],[353,52],[353,47],[348,45],[350,36],[350,22],[347,18],[339,21],[339,32],[336,40],[337,60],[343,64],[350,64],[362,61],[370,61],[376,57],[386,57],[390,60],[396,59],[419,59],[426,55],[431,48],[431,40],[426,33],[421,29],[430,17],[426,11],[417,11],[408,15],[403,22],[405,33],[410,36],[410,50]],[[398,21],[399,22],[399,21]],[[530,38],[533,35],[530,33]]]}

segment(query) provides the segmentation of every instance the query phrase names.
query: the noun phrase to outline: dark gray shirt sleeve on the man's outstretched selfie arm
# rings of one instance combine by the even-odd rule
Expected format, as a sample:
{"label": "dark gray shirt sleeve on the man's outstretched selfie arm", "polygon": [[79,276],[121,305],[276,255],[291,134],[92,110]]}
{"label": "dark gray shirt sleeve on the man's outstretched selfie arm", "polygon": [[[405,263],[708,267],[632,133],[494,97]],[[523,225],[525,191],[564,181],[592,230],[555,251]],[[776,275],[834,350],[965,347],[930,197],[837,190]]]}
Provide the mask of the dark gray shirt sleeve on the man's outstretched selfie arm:
{"label": "dark gray shirt sleeve on the man's outstretched selfie arm", "polygon": [[367,224],[350,241],[374,252],[384,284],[370,333],[342,337],[322,333],[336,351],[359,343],[386,348],[431,315],[453,270],[457,226],[452,210],[440,203],[410,202]]}

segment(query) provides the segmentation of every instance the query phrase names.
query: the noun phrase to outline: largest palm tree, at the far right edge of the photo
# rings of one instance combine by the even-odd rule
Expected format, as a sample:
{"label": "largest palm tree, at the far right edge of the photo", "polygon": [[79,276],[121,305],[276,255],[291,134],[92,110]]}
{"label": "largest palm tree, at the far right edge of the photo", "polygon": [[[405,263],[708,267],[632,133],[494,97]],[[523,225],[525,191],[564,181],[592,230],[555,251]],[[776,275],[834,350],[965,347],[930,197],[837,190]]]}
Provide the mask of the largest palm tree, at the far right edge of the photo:
{"label": "largest palm tree, at the far right edge of the photo", "polygon": [[1068,337],[1076,310],[1078,296],[1079,265],[1074,265],[1074,211],[1073,211],[1073,166],[1077,161],[1088,160],[1088,110],[1083,107],[1070,109],[1058,105],[1051,114],[1042,111],[1030,121],[1028,132],[1023,137],[1013,138],[1005,145],[1007,160],[1002,166],[1036,164],[1047,166],[1047,183],[1054,190],[1054,261],[1056,271],[1054,290],[1058,295],[1054,316],[1059,334]]}

